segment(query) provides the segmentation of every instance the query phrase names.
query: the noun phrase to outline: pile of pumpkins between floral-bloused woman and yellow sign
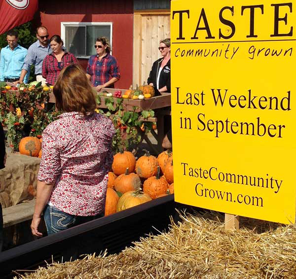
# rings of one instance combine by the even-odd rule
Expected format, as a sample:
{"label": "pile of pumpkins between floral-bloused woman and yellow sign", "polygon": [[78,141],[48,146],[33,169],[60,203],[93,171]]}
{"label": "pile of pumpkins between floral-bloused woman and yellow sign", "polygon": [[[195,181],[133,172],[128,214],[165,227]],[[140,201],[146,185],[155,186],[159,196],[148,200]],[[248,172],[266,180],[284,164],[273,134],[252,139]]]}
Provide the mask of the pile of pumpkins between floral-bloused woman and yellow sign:
{"label": "pile of pumpkins between floral-bloused woman and yellow sign", "polygon": [[108,174],[105,216],[174,193],[171,151],[163,151],[157,158],[146,152],[137,161],[129,151],[117,153],[112,171]]}

